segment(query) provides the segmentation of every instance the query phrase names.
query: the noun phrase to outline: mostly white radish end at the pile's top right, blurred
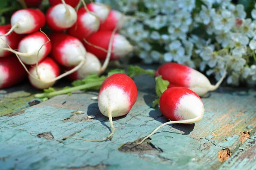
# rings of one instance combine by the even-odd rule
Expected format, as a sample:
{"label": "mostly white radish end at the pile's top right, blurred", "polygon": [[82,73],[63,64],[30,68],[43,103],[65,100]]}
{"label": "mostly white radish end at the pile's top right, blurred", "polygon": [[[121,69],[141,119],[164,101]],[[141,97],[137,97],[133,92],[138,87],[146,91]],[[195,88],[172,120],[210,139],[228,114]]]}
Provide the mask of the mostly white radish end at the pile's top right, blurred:
{"label": "mostly white radish end at the pile's top right, blurred", "polygon": [[92,11],[99,17],[101,23],[105,22],[110,12],[109,6],[100,3],[88,3],[86,6],[89,11]]}

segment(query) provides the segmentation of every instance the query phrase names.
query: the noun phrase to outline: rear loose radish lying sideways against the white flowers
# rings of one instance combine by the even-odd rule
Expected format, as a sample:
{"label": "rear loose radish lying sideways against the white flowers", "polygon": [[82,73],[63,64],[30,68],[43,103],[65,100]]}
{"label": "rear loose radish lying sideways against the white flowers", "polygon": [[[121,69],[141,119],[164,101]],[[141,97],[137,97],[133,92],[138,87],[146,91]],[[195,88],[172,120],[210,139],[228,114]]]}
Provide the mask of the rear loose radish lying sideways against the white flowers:
{"label": "rear loose radish lying sideways against the white flowers", "polygon": [[186,65],[168,62],[157,69],[155,76],[157,77],[161,75],[164,80],[169,81],[170,84],[168,88],[186,87],[194,91],[199,96],[204,96],[209,91],[216,90],[226,77],[226,74],[227,72],[225,71],[216,85],[211,85],[209,79],[199,71],[196,71]]}

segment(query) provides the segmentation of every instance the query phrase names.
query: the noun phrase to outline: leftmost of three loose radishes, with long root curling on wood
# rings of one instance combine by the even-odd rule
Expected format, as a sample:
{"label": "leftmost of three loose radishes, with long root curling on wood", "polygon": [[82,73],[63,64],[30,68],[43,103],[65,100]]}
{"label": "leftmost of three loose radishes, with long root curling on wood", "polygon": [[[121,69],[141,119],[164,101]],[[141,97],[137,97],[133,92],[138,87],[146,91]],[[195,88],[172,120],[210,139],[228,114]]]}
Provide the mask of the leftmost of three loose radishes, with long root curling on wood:
{"label": "leftmost of three loose radishes, with long root curling on wood", "polygon": [[111,138],[116,128],[113,126],[112,117],[127,114],[137,100],[137,87],[135,82],[123,73],[116,73],[105,79],[100,87],[98,106],[104,116],[108,116],[112,132],[104,139],[87,140],[69,136],[66,138],[80,139],[84,141],[105,141]]}

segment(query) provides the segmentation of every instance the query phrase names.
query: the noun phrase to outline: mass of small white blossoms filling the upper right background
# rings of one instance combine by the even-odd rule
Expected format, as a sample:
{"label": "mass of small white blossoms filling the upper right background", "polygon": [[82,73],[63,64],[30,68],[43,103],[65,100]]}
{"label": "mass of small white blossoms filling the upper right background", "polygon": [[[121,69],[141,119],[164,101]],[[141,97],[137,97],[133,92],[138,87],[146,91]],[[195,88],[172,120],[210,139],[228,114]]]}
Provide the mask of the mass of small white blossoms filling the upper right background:
{"label": "mass of small white blossoms filling the upper right background", "polygon": [[120,0],[118,6],[135,16],[121,34],[146,64],[177,62],[216,80],[227,70],[227,84],[256,84],[256,5],[249,12],[231,0]]}

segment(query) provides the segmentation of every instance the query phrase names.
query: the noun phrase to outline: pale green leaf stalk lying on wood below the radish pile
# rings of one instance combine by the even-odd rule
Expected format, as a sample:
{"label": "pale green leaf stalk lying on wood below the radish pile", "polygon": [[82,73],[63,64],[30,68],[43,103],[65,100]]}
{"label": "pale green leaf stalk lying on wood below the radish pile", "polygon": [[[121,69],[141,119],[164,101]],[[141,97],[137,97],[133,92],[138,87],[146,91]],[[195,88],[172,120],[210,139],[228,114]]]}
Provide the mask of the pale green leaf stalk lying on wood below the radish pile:
{"label": "pale green leaf stalk lying on wood below the radish pile", "polygon": [[88,84],[85,84],[85,85],[75,86],[73,88],[63,89],[63,90],[60,90],[60,91],[53,91],[53,92],[50,92],[50,93],[42,93],[42,94],[35,94],[35,97],[36,98],[46,98],[46,97],[50,98],[50,97],[58,96],[58,95],[61,95],[61,94],[68,94],[68,93],[71,93],[73,91],[83,90],[83,89],[86,89],[86,88],[92,88],[92,87],[102,85],[102,82],[103,82],[103,80],[99,81],[99,82],[92,82],[92,83],[88,83]]}

